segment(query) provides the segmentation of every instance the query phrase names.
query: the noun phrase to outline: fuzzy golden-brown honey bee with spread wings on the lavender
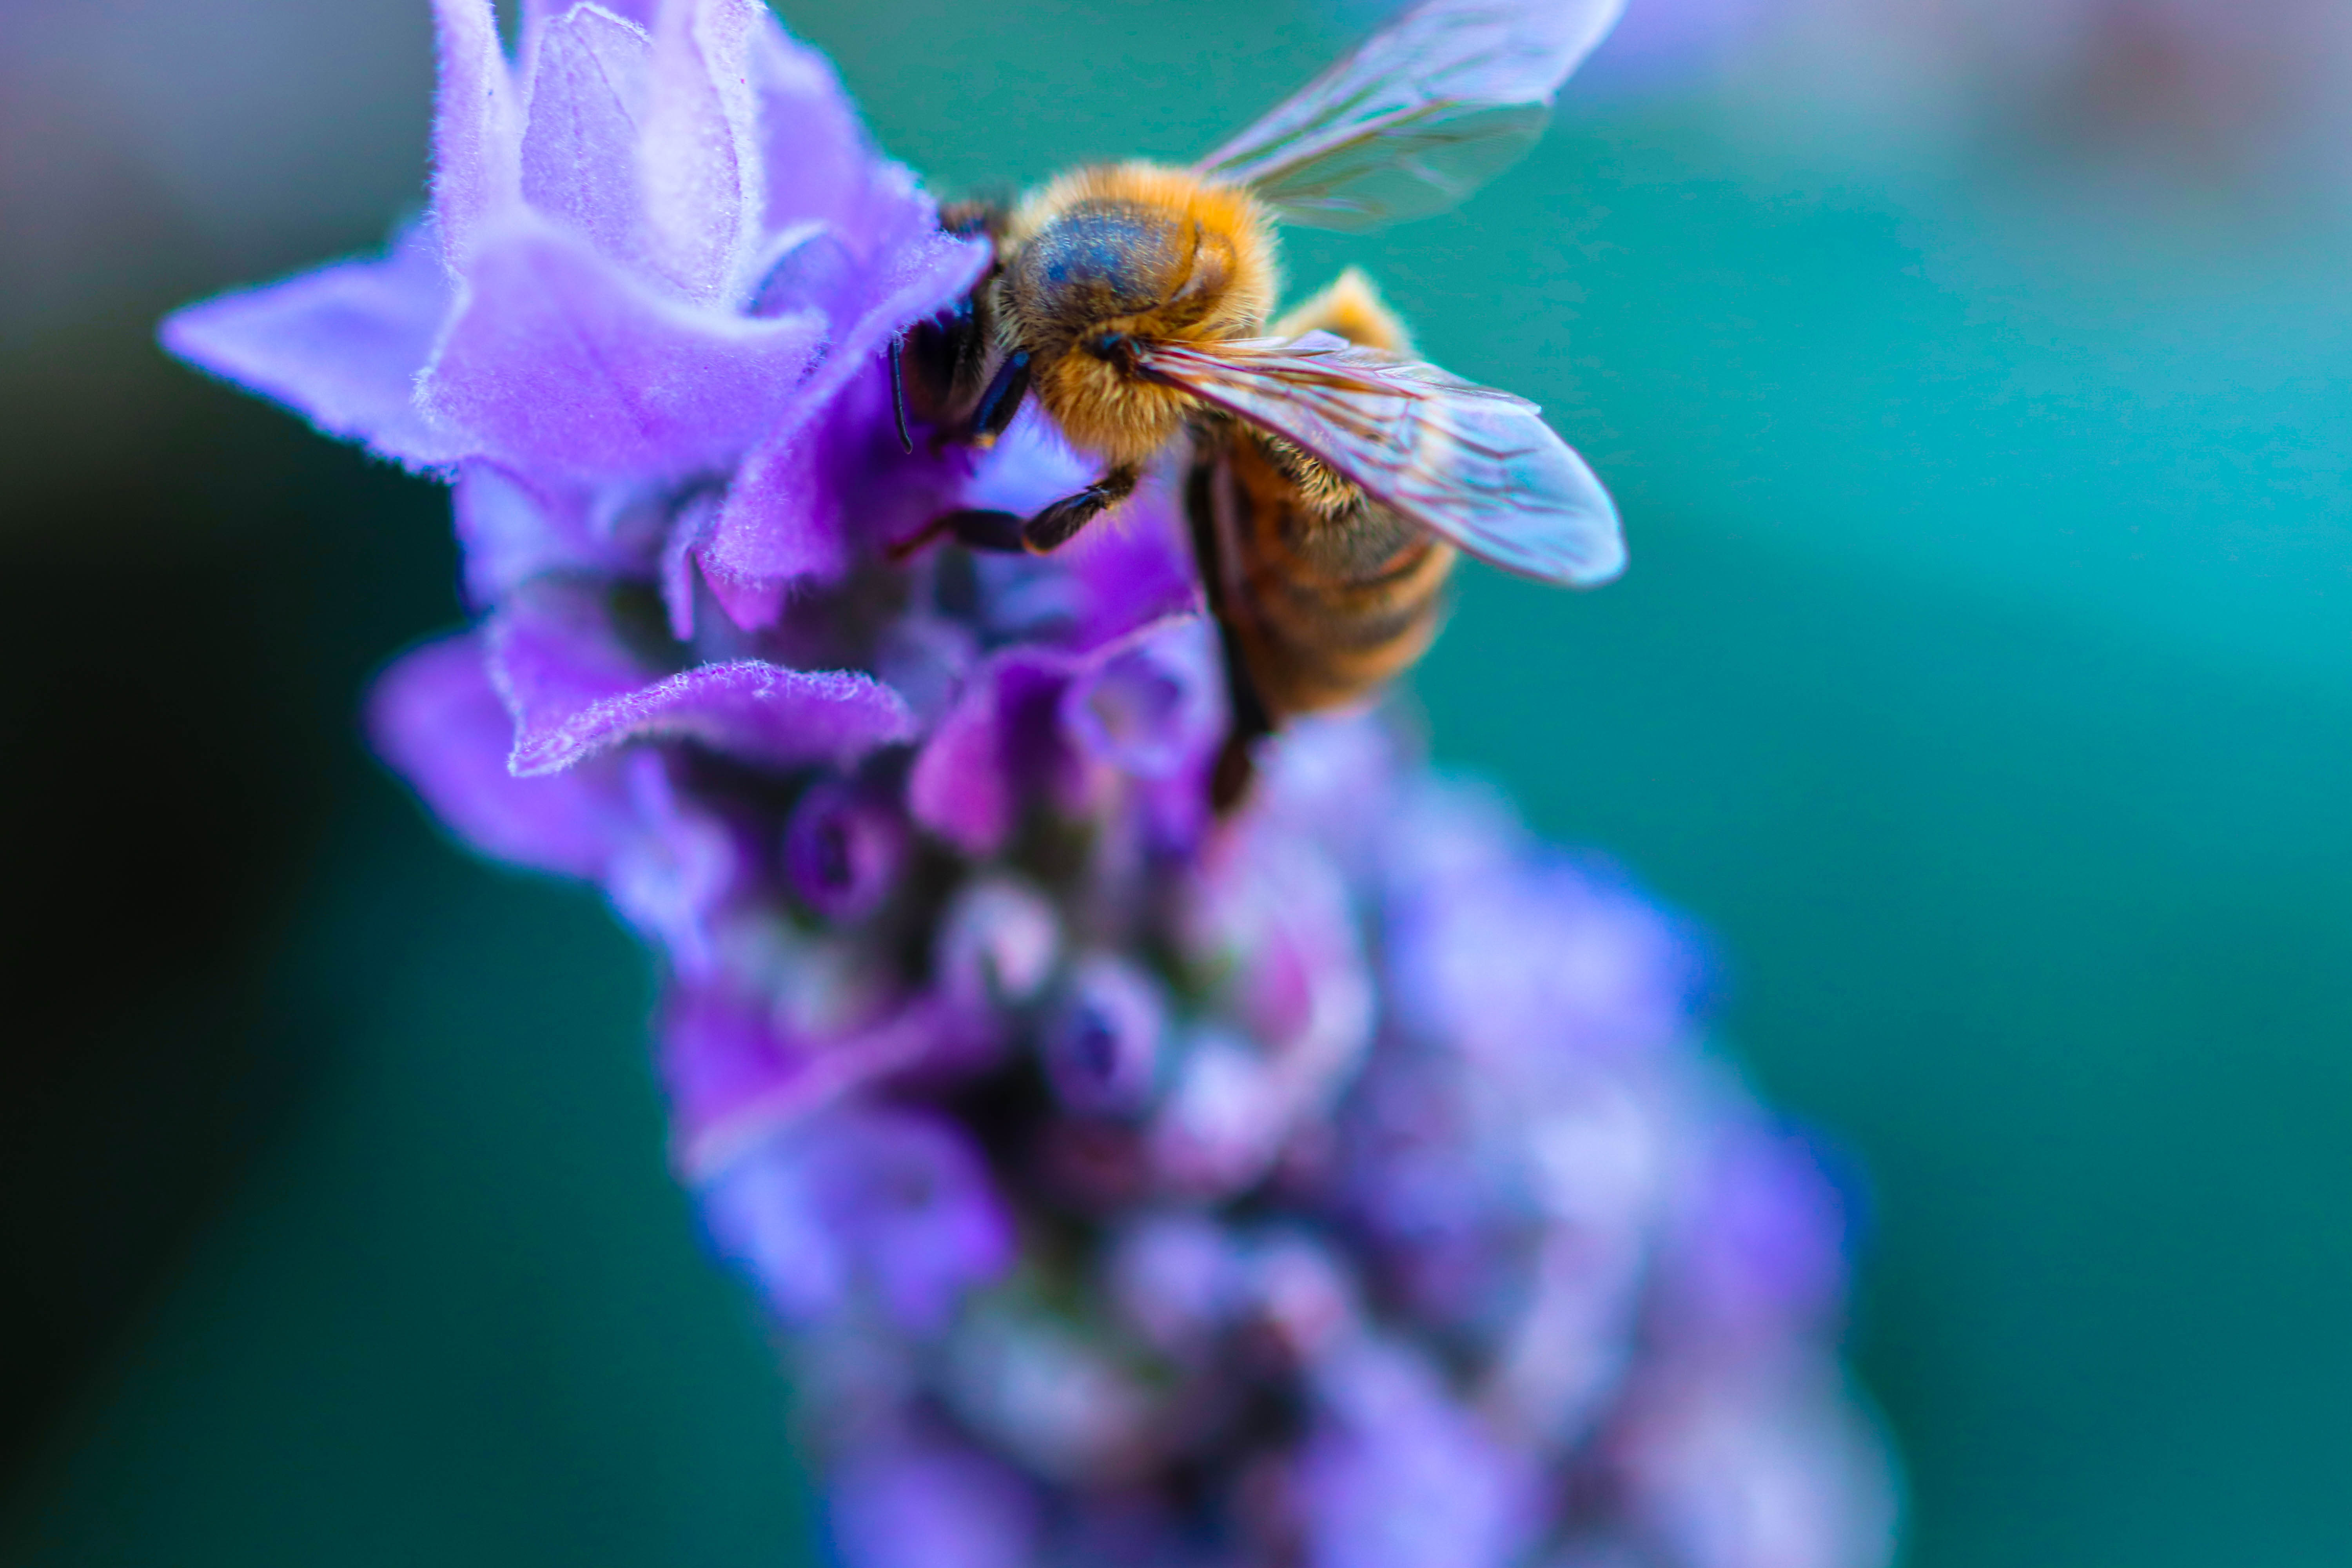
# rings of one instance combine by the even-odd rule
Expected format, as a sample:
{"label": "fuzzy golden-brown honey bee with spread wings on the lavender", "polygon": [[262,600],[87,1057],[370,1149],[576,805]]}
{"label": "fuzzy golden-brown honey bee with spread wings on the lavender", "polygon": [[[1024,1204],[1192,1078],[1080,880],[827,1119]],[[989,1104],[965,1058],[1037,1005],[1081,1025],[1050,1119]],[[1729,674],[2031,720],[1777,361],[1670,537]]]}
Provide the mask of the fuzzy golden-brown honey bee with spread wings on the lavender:
{"label": "fuzzy golden-brown honey bee with spread wings on the lavender", "polygon": [[1352,703],[1437,632],[1458,552],[1571,588],[1625,564],[1609,491],[1536,404],[1411,357],[1352,268],[1270,322],[1277,223],[1374,228],[1451,207],[1543,132],[1623,0],[1425,0],[1190,169],[1075,169],[941,223],[995,261],[891,355],[908,416],[990,444],[1035,400],[1101,475],[1030,517],[964,510],[953,536],[1047,552],[1190,442],[1185,510],[1232,693],[1214,795],[1249,748]]}

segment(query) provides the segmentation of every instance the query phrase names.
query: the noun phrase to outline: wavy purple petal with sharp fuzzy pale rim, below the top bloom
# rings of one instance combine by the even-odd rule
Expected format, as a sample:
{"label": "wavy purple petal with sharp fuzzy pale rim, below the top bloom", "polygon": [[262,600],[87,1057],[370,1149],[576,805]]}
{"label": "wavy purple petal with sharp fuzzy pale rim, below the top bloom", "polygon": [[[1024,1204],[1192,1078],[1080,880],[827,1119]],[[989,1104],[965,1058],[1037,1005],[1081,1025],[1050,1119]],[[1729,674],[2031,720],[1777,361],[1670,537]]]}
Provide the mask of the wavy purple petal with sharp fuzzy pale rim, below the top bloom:
{"label": "wavy purple petal with sharp fuzzy pale rim, below the top bloom", "polygon": [[793,766],[847,762],[913,731],[906,703],[870,675],[757,658],[663,675],[623,642],[607,602],[574,585],[515,595],[487,637],[492,679],[515,719],[517,778],[628,741],[701,741]]}

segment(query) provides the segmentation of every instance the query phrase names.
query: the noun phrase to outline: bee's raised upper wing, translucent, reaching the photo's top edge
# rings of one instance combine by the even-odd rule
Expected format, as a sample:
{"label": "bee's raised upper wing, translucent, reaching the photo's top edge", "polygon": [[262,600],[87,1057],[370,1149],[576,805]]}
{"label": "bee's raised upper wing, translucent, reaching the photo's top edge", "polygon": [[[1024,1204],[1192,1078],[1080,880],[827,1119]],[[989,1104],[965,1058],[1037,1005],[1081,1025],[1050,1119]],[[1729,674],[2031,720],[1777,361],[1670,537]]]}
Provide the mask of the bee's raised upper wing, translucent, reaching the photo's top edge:
{"label": "bee's raised upper wing, translucent, reaching the photo's top edge", "polygon": [[1423,0],[1209,153],[1287,223],[1444,212],[1508,169],[1625,0]]}

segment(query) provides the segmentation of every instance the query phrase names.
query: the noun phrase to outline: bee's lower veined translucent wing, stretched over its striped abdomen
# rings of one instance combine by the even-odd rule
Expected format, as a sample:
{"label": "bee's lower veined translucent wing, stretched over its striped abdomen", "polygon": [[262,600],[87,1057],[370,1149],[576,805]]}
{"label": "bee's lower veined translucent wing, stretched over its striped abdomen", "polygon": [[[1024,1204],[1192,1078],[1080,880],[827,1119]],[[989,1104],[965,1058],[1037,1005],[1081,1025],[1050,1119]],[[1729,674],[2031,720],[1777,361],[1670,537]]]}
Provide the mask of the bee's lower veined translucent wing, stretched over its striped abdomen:
{"label": "bee's lower veined translucent wing, stretched over its striped abdomen", "polygon": [[1329,331],[1136,343],[1136,369],[1294,442],[1505,571],[1595,588],[1625,569],[1616,503],[1524,397]]}

